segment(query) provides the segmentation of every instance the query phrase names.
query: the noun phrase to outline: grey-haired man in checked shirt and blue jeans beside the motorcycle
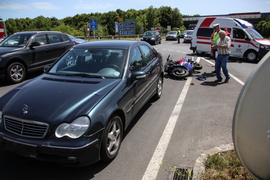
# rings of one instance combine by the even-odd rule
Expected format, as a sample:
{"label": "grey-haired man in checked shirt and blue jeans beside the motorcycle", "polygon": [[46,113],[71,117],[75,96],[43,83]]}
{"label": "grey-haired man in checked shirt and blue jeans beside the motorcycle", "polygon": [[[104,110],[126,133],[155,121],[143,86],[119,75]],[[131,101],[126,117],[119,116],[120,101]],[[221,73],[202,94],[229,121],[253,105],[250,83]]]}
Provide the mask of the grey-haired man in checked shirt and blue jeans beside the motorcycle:
{"label": "grey-haired man in checked shirt and blue jeans beside the motorcycle", "polygon": [[227,61],[230,57],[231,53],[231,38],[226,35],[225,31],[219,31],[219,39],[217,40],[216,45],[213,47],[218,52],[218,56],[216,58],[215,70],[217,80],[215,82],[221,82],[221,68],[226,77],[224,82],[228,82],[230,79],[230,74],[227,68]]}

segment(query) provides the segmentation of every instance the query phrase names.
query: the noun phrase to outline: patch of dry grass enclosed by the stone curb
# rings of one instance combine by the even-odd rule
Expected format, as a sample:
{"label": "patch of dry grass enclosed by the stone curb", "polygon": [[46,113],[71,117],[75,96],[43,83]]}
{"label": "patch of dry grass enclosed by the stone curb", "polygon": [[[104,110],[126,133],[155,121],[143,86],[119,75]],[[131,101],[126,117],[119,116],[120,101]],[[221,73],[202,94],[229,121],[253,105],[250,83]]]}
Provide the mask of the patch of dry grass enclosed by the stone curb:
{"label": "patch of dry grass enclosed by the stone curb", "polygon": [[235,150],[208,155],[204,165],[204,179],[254,179],[240,163]]}

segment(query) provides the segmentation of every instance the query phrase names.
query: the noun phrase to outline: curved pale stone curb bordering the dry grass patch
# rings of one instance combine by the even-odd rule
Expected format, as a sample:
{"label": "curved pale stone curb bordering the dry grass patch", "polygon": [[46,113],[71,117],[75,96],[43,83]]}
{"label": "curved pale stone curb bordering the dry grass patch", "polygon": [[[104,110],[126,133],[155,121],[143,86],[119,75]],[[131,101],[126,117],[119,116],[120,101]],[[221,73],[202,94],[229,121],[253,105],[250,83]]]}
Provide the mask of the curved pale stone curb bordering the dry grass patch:
{"label": "curved pale stone curb bordering the dry grass patch", "polygon": [[234,146],[233,143],[230,144],[222,144],[218,147],[214,147],[212,149],[209,149],[207,151],[204,151],[195,161],[195,164],[193,166],[193,180],[201,180],[203,179],[203,173],[205,172],[205,166],[204,161],[207,160],[207,155],[214,155],[219,152],[225,152],[229,150],[233,150]]}

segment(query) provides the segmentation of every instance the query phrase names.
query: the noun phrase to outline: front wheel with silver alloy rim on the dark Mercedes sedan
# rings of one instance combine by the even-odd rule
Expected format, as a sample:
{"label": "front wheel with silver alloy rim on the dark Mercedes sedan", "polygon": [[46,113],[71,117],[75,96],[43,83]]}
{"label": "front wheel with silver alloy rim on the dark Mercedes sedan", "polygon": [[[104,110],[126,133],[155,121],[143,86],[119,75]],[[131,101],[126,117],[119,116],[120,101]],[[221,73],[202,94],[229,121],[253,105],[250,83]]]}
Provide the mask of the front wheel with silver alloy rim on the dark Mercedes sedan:
{"label": "front wheel with silver alloy rim on the dark Mercedes sedan", "polygon": [[101,142],[102,161],[112,161],[118,154],[123,137],[123,124],[120,116],[113,115],[107,124]]}

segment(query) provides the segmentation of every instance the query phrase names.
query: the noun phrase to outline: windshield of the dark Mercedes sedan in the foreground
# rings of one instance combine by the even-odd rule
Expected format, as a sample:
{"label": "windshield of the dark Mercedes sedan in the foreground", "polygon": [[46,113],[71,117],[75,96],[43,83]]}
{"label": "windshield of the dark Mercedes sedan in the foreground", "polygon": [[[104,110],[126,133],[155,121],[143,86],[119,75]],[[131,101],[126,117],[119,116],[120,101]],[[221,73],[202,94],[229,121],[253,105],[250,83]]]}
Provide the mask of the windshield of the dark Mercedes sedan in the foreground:
{"label": "windshield of the dark Mercedes sedan in the foreground", "polygon": [[50,69],[48,74],[97,78],[121,78],[126,49],[72,48]]}

